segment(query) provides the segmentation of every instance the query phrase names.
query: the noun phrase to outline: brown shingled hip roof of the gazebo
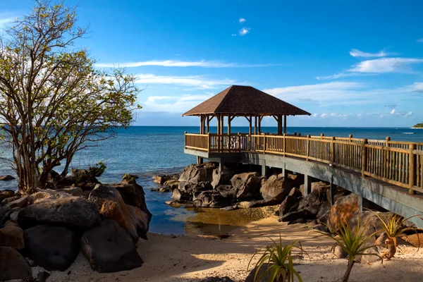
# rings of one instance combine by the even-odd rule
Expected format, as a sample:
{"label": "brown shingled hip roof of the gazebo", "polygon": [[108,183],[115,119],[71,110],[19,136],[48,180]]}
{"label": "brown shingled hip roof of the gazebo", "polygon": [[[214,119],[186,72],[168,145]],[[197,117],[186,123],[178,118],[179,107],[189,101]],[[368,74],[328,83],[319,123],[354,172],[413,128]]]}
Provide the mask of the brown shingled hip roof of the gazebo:
{"label": "brown shingled hip roof of the gazebo", "polygon": [[287,116],[308,115],[287,102],[251,86],[232,85],[207,101],[187,111],[182,116],[200,116],[200,114],[231,114],[231,116]]}

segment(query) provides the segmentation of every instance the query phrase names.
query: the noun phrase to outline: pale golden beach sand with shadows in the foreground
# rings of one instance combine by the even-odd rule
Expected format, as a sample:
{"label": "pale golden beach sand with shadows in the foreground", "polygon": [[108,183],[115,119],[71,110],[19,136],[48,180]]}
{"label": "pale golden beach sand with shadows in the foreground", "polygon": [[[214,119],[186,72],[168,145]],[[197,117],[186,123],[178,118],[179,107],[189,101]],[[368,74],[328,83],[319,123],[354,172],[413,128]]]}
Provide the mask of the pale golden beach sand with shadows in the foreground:
{"label": "pale golden beach sand with shadows in the foreground", "polygon": [[[346,259],[334,259],[331,254],[333,241],[312,231],[314,224],[287,226],[271,216],[235,228],[229,238],[221,239],[200,235],[149,234],[149,240],[137,244],[145,263],[138,269],[114,274],[93,272],[85,257],[78,255],[75,263],[65,272],[53,271],[52,281],[199,281],[208,276],[229,276],[234,281],[244,281],[247,264],[257,248],[269,245],[269,237],[283,241],[300,240],[309,257],[296,267],[302,280],[337,281],[346,269]],[[400,245],[391,261],[373,264],[355,264],[351,282],[423,281],[423,249]],[[34,268],[37,274],[39,268]],[[70,272],[70,273],[69,273]],[[69,273],[69,274],[68,274]]]}

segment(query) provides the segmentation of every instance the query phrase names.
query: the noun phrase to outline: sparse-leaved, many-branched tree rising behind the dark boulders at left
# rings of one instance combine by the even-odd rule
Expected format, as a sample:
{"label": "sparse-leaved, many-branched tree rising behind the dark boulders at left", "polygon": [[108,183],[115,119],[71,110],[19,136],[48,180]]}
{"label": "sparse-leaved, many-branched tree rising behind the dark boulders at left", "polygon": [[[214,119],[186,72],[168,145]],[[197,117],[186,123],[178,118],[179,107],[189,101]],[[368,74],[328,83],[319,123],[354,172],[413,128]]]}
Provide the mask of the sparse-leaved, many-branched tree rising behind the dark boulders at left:
{"label": "sparse-leaved, many-branched tree rising behind the dark boulders at left", "polygon": [[76,152],[133,120],[139,90],[121,69],[94,68],[74,7],[35,1],[0,35],[0,140],[11,147],[18,188],[44,188],[51,169],[66,176]]}

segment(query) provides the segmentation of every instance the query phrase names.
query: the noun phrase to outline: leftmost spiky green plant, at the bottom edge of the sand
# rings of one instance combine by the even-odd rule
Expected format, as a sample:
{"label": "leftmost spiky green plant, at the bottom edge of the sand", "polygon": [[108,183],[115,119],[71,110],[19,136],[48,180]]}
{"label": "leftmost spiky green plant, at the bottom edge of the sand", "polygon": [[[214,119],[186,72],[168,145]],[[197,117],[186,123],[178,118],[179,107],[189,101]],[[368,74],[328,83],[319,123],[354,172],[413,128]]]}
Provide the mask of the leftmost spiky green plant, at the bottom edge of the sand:
{"label": "leftmost spiky green plant, at the bottom edge of the sand", "polygon": [[[293,257],[291,255],[293,248],[296,248],[300,250],[300,257],[302,257],[302,253],[305,253],[305,251],[302,249],[301,243],[295,241],[290,244],[282,245],[281,235],[279,235],[279,243],[276,243],[274,240],[272,240],[272,242],[272,245],[255,252],[248,263],[247,270],[250,268],[252,259],[257,254],[261,254],[259,260],[255,264],[256,271],[254,281],[261,281],[263,276],[267,274],[269,276],[269,282],[293,282],[294,278],[302,282],[300,274],[294,269]],[[259,275],[259,270],[262,268],[263,264],[267,264],[266,270]]]}

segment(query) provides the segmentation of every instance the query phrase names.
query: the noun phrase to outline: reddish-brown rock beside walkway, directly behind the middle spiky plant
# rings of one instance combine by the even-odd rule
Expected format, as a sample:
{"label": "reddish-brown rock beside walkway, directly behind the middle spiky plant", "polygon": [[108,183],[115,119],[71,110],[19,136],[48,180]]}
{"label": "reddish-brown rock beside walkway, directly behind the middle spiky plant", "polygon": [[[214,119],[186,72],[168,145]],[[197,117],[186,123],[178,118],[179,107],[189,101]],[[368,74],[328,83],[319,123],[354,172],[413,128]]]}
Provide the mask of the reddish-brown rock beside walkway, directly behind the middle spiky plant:
{"label": "reddish-brown rock beside walkway, directly behind the middle spiky plant", "polygon": [[336,200],[329,212],[328,227],[331,231],[337,231],[341,222],[348,222],[360,214],[360,196],[350,194]]}

